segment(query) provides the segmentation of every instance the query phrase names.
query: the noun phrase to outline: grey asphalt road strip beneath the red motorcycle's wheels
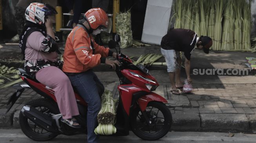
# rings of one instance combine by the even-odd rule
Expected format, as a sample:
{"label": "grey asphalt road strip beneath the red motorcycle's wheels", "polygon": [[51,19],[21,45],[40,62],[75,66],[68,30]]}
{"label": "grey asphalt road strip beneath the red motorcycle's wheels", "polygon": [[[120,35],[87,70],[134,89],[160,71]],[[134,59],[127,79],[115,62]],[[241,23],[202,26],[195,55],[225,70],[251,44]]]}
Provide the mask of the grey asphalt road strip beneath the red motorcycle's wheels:
{"label": "grey asphalt road strip beneath the red motorcycle's wheels", "polygon": [[[57,136],[51,141],[40,143],[86,143],[86,135]],[[157,141],[145,141],[132,132],[129,136],[100,137],[99,143],[255,143],[256,134],[234,134],[218,132],[169,132]],[[27,138],[20,129],[0,129],[0,143],[39,143]]]}

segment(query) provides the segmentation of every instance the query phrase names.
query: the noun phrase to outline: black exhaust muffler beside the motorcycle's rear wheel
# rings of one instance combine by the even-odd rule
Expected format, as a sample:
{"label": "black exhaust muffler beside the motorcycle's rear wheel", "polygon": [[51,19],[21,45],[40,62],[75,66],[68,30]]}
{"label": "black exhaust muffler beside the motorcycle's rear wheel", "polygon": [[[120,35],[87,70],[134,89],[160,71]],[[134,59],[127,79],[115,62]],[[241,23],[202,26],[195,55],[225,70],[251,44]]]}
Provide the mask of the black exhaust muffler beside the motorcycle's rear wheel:
{"label": "black exhaust muffler beside the motorcycle's rear wheel", "polygon": [[58,132],[58,127],[54,124],[50,115],[43,114],[34,107],[27,105],[22,107],[21,112],[23,116],[27,117],[31,122],[34,122],[38,127],[41,127],[48,132]]}

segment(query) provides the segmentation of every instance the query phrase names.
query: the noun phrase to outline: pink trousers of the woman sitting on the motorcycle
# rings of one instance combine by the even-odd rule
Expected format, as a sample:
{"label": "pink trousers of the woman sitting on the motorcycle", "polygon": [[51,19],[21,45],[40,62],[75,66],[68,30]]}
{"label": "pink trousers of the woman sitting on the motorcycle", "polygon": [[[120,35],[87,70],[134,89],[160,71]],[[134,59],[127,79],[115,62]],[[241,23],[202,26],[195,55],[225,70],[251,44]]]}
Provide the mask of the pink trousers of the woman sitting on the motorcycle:
{"label": "pink trousers of the woman sitting on the motorcycle", "polygon": [[55,91],[55,97],[63,119],[79,114],[76,98],[67,75],[55,66],[48,66],[36,72],[36,79]]}

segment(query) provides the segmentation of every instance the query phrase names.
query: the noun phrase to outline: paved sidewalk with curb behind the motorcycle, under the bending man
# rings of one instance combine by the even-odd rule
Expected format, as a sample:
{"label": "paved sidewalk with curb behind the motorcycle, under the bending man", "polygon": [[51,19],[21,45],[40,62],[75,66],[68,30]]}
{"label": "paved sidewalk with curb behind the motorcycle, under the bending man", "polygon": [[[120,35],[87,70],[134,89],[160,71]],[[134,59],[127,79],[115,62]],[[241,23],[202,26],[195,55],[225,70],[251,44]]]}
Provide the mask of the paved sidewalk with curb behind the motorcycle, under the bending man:
{"label": "paved sidewalk with curb behind the motorcycle, under the bending man", "polygon": [[[156,53],[160,54],[159,46],[121,49],[128,56]],[[61,51],[63,52],[63,51]],[[18,46],[0,48],[0,59],[11,53],[20,54]],[[191,56],[192,69],[243,69],[245,57],[255,57],[249,52],[224,52],[195,50]],[[8,57],[6,57],[6,61]],[[164,62],[160,59],[159,62]],[[19,63],[20,64],[20,63]],[[17,64],[18,65],[18,64]],[[21,64],[22,65],[22,64]],[[190,94],[172,95],[170,82],[165,66],[151,66],[149,73],[160,83],[155,91],[168,100],[172,113],[171,130],[189,131],[225,131],[225,132],[256,132],[256,77],[247,76],[218,76],[191,75],[194,91]],[[104,86],[112,87],[115,97],[118,96],[118,77],[108,66],[100,65],[94,68]],[[102,74],[104,72],[104,74]],[[182,80],[185,70],[182,68]],[[30,100],[40,98],[32,90],[26,89],[12,110],[5,115],[8,98],[15,91],[13,88],[0,90],[0,127],[18,128],[18,113],[22,106]]]}

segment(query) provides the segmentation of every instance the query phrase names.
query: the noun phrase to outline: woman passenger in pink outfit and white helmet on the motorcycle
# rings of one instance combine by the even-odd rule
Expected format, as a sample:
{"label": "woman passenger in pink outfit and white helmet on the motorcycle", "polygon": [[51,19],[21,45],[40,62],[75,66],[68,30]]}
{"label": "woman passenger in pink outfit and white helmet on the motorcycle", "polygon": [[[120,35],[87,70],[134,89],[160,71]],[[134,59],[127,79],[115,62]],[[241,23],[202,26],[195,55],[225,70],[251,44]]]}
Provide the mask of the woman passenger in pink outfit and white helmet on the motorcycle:
{"label": "woman passenger in pink outfit and white helmet on the motorcycle", "polygon": [[67,75],[63,73],[62,62],[57,59],[58,45],[53,24],[47,19],[56,14],[47,4],[31,3],[25,11],[26,24],[20,36],[19,46],[24,54],[25,70],[36,80],[55,91],[61,121],[79,128],[73,116],[79,115],[74,91]]}

